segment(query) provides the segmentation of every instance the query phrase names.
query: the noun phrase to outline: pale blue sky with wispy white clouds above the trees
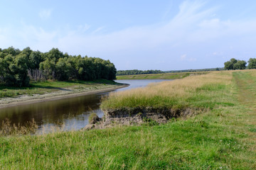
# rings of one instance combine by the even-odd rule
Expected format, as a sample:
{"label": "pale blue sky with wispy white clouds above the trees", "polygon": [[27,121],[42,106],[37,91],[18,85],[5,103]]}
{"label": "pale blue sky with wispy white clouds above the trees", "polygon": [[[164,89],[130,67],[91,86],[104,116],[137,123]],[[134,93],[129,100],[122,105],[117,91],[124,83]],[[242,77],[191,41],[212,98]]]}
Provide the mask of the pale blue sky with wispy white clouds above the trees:
{"label": "pale blue sky with wispy white clouds above the trees", "polygon": [[1,0],[0,48],[57,47],[117,70],[224,67],[256,57],[255,8],[255,0]]}

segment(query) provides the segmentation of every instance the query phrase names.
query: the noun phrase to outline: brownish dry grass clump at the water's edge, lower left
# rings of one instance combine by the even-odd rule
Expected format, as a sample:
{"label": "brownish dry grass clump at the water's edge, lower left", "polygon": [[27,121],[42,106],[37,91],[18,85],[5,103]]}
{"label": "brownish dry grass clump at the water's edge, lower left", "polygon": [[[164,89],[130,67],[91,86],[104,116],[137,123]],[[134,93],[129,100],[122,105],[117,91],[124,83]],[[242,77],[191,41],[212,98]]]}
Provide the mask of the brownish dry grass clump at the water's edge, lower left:
{"label": "brownish dry grass clump at the water's edge, lower left", "polygon": [[11,123],[11,120],[6,118],[2,121],[0,136],[35,134],[37,130],[38,125],[35,120],[28,121],[26,125],[15,125]]}

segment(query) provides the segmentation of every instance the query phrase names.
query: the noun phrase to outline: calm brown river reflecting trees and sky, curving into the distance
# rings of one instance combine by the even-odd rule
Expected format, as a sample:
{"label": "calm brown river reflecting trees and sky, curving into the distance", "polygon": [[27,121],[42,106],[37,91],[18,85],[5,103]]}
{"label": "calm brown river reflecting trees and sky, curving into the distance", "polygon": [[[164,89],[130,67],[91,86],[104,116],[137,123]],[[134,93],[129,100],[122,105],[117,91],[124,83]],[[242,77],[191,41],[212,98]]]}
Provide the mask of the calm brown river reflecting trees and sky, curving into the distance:
{"label": "calm brown river reflecting trees and sky, curving into the distance", "polygon": [[[150,83],[166,81],[162,79],[146,80],[116,80],[118,83],[130,84],[122,89],[114,91],[124,91],[146,86]],[[65,124],[65,130],[79,130],[88,124],[91,112],[102,117],[104,113],[100,110],[100,98],[108,95],[111,91],[74,98],[64,98],[56,101],[46,101],[32,103],[22,106],[13,106],[0,109],[0,121],[9,118],[11,123],[24,125],[28,121],[35,120],[40,129],[45,129]],[[1,123],[0,123],[1,124]]]}

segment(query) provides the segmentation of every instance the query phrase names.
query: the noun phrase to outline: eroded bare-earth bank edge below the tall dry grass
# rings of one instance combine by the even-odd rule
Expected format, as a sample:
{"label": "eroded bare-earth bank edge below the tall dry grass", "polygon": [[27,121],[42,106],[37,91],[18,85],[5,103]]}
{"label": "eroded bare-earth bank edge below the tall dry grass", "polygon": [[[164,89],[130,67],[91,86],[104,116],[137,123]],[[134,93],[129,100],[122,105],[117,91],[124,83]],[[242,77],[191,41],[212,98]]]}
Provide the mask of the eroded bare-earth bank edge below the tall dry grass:
{"label": "eroded bare-earth bank edge below the tall dry grass", "polygon": [[95,121],[82,130],[110,128],[116,125],[142,125],[146,122],[168,123],[172,118],[186,118],[202,113],[202,108],[122,108],[104,111],[103,118]]}

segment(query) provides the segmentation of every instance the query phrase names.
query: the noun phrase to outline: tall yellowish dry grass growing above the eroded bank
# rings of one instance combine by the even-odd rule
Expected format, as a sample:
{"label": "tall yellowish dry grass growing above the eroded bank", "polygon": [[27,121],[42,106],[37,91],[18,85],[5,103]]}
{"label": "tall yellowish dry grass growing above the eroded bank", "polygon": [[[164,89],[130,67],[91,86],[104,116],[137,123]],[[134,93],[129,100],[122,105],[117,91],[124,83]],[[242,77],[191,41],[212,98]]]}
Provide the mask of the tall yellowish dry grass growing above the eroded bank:
{"label": "tall yellowish dry grass growing above the eroded bank", "polygon": [[[212,72],[174,81],[149,84],[145,88],[113,92],[102,101],[102,109],[133,107],[212,107],[216,95],[223,95],[232,82],[231,72]],[[218,98],[219,100],[219,98]],[[227,102],[227,101],[225,101]]]}

